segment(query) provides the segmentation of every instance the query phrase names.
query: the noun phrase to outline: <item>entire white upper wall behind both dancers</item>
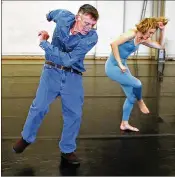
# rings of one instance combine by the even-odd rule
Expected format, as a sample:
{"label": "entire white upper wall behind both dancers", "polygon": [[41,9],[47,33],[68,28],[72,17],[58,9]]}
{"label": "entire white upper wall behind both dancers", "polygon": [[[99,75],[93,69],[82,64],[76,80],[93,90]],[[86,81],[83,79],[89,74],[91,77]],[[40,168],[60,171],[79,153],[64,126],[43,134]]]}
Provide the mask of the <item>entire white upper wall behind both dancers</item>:
{"label": "entire white upper wall behind both dancers", "polygon": [[[109,56],[110,42],[121,33],[133,28],[139,22],[143,1],[3,1],[2,2],[2,54],[3,55],[43,55],[38,46],[38,31],[47,30],[52,38],[54,22],[46,20],[48,11],[58,8],[73,13],[90,3],[97,6],[100,19],[97,24],[99,41],[88,54]],[[125,4],[125,15],[124,15]],[[153,1],[148,1],[146,17],[152,16]],[[170,19],[166,27],[166,48],[168,56],[175,56],[175,14],[174,1],[166,1],[165,16]],[[125,19],[124,19],[125,17]],[[124,27],[124,28],[123,28]],[[49,40],[49,41],[50,41]],[[149,55],[149,48],[141,46],[139,55]]]}

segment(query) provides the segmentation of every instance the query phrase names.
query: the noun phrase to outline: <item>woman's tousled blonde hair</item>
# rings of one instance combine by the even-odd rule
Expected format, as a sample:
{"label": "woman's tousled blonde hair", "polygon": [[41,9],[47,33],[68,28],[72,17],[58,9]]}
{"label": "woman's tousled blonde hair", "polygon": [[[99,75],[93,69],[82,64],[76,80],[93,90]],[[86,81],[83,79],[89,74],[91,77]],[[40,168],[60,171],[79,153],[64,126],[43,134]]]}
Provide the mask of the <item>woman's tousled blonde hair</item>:
{"label": "woman's tousled blonde hair", "polygon": [[168,19],[165,17],[144,18],[139,24],[136,24],[136,28],[139,32],[144,34],[149,29],[158,29],[158,22],[162,22],[163,25],[166,25]]}

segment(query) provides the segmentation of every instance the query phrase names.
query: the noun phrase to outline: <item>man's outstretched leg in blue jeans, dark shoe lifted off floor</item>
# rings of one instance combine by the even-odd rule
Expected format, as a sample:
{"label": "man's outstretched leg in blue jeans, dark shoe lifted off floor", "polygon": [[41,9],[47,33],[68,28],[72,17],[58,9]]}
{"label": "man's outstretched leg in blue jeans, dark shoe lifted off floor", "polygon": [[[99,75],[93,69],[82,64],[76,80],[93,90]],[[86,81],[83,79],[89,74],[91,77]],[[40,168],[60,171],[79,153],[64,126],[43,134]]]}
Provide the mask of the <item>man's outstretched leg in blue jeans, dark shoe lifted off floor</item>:
{"label": "man's outstretched leg in blue jeans, dark shoe lifted off floor", "polygon": [[[58,95],[58,87],[53,79],[54,71],[45,69],[36,92],[36,97],[30,106],[26,122],[21,133],[22,138],[13,146],[16,153],[21,153],[36,139],[38,129],[49,110],[49,105]],[[59,77],[59,75],[57,76]],[[57,90],[56,90],[57,88]]]}

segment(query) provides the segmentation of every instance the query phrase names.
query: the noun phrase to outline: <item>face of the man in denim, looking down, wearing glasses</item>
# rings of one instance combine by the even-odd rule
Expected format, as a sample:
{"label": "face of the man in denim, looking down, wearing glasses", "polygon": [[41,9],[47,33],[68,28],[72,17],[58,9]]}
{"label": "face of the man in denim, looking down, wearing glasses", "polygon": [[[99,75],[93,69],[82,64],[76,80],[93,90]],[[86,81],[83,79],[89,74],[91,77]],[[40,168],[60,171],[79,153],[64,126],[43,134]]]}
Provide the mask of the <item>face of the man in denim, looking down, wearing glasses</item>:
{"label": "face of the man in denim, looking down, wearing glasses", "polygon": [[78,14],[76,16],[77,30],[82,34],[86,35],[97,23],[89,14]]}

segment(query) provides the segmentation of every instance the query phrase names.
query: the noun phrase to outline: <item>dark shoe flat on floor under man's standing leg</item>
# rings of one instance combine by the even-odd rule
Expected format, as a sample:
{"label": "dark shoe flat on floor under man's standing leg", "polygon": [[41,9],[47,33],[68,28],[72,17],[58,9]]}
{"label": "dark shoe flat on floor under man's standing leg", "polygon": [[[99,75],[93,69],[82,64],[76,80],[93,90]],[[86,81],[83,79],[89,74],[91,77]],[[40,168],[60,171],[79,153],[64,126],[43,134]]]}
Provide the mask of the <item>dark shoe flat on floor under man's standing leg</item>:
{"label": "dark shoe flat on floor under man's standing leg", "polygon": [[69,164],[80,165],[80,161],[79,161],[78,157],[76,156],[75,152],[61,153],[61,158],[63,161],[66,161]]}

